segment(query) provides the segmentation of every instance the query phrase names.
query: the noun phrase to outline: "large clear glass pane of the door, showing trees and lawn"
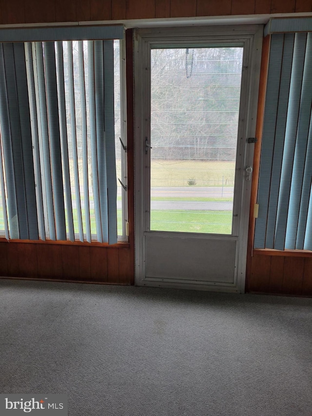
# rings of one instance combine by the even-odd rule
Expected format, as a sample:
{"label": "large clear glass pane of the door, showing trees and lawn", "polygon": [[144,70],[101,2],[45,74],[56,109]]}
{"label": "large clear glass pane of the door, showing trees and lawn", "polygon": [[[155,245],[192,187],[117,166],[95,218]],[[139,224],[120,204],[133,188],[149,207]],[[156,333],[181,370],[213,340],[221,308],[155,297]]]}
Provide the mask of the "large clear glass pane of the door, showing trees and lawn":
{"label": "large clear glass pane of the door, showing trees and lawn", "polygon": [[151,230],[232,233],[242,56],[151,51]]}

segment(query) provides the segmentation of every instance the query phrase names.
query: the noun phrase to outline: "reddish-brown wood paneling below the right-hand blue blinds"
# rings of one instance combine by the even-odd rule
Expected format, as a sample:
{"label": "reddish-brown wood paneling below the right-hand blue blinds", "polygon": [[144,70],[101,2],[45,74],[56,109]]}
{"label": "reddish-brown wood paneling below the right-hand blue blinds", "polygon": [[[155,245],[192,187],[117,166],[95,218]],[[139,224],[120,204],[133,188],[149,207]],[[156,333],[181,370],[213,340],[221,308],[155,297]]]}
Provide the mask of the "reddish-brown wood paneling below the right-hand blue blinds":
{"label": "reddish-brown wood paneling below the right-hand blue blinds", "polygon": [[312,253],[254,250],[247,291],[312,296]]}

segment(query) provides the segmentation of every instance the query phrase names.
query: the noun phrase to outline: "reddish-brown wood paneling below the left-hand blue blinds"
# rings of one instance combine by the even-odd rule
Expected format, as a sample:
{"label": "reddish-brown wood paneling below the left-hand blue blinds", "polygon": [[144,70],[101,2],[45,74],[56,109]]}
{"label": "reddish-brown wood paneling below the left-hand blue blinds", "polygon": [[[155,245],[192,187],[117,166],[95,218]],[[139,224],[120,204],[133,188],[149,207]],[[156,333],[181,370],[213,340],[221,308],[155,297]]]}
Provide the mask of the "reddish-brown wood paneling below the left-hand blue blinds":
{"label": "reddish-brown wood paneling below the left-hand blue blinds", "polygon": [[129,244],[0,242],[0,276],[133,284],[134,264]]}

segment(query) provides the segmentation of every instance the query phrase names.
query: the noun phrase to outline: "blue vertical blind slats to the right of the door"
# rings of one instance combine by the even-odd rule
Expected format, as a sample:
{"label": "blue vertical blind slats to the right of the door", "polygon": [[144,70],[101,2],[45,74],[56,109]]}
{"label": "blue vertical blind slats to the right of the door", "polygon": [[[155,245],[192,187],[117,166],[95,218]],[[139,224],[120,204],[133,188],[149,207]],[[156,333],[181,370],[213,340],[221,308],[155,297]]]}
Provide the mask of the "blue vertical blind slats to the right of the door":
{"label": "blue vertical blind slats to the right of the door", "polygon": [[312,250],[312,33],[273,34],[254,248]]}

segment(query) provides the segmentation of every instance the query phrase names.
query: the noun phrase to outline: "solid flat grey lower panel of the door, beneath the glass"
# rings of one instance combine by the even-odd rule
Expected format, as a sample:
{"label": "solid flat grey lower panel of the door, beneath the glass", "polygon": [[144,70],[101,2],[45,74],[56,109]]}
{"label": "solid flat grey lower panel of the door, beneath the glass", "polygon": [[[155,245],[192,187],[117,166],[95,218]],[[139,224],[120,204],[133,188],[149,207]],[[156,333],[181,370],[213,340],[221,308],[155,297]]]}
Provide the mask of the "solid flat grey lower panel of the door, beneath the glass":
{"label": "solid flat grey lower panel of the door, beneath the glass", "polygon": [[213,239],[145,233],[145,278],[161,281],[234,284],[235,238]]}

